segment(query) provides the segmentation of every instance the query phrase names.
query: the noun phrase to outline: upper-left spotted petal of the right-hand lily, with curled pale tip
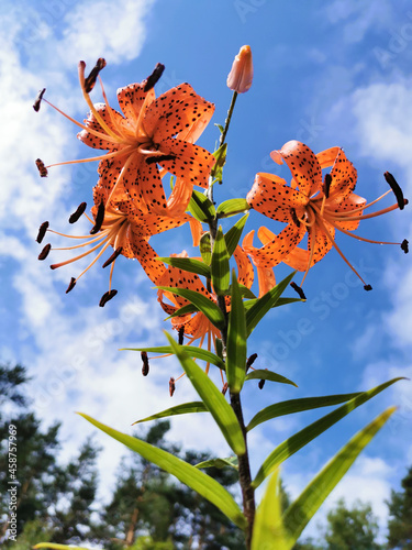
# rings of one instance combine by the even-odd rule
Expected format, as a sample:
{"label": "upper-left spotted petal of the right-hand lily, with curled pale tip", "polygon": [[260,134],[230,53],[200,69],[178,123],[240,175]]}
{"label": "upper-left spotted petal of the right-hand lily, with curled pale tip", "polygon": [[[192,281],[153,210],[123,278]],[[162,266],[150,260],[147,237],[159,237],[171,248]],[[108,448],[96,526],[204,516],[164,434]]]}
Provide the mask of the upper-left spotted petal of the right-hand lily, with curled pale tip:
{"label": "upper-left spotted petal of the right-hand lily, with curled pale tip", "polygon": [[285,160],[300,191],[307,197],[322,188],[322,168],[308,145],[292,140],[286,143],[280,151],[270,153],[275,162],[278,162],[278,155]]}

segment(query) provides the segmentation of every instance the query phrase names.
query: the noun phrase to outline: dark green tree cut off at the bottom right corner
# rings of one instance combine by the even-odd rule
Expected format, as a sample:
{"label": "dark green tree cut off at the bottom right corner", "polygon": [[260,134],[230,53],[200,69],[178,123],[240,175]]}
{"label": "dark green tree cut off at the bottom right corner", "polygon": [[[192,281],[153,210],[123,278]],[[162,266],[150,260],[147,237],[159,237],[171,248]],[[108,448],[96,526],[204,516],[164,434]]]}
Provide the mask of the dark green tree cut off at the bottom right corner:
{"label": "dark green tree cut off at the bottom right corner", "polygon": [[403,477],[402,490],[392,490],[389,506],[388,548],[412,549],[412,466]]}

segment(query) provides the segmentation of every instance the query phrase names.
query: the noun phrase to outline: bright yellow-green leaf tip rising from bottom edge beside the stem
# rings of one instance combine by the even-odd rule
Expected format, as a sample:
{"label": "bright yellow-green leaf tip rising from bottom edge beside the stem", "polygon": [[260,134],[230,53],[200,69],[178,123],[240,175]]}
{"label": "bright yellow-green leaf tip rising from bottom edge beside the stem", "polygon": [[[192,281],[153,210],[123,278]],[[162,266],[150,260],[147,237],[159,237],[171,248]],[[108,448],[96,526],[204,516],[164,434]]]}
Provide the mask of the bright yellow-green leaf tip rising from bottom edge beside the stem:
{"label": "bright yellow-green leaf tip rising from bottom edge beside the stem", "polygon": [[256,510],[252,550],[289,550],[291,548],[283,529],[279,485],[279,470],[276,470],[269,479]]}

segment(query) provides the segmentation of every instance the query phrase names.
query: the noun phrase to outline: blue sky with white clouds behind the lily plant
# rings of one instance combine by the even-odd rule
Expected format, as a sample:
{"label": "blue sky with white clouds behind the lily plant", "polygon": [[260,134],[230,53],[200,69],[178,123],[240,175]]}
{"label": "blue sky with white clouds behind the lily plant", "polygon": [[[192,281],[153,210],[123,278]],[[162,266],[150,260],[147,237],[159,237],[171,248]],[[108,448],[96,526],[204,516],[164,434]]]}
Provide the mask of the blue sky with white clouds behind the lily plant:
{"label": "blue sky with white clouds behind the lily plant", "polygon": [[[66,295],[77,267],[52,272],[48,261],[37,262],[40,223],[47,219],[53,229],[68,231],[68,215],[83,200],[91,206],[97,182],[96,163],[52,168],[47,179],[38,178],[37,157],[49,164],[90,155],[76,139],[77,129],[56,111],[43,105],[34,113],[38,89],[46,87],[49,101],[82,120],[87,107],[77,82],[79,59],[89,67],[100,56],[107,59],[102,78],[112,105],[118,87],[141,81],[162,62],[166,70],[158,94],[189,81],[216,105],[199,141],[213,150],[213,123],[224,121],[231,99],[227,73],[238,48],[249,44],[254,84],[238,98],[218,201],[244,197],[257,172],[288,178],[269,153],[291,139],[314,152],[344,147],[358,170],[357,193],[368,200],[387,190],[386,170],[411,196],[412,11],[405,0],[396,8],[386,0],[334,0],[327,7],[321,1],[5,0],[0,35],[0,358],[27,366],[38,415],[45,422],[63,421],[66,457],[93,431],[75,410],[126,431],[133,420],[193,394],[181,380],[170,400],[168,380],[180,372],[172,360],[154,361],[151,375],[142,378],[138,355],[118,351],[164,342],[164,315],[137,262],[119,258],[113,285],[120,292],[105,308],[97,306],[108,285],[101,268],[91,270]],[[92,98],[101,100],[98,89]],[[76,231],[86,230],[81,223]],[[247,228],[261,223],[254,213]],[[410,211],[368,220],[359,234],[385,241],[410,238]],[[344,235],[338,243],[374,290],[364,292],[335,251],[310,272],[308,301],[274,310],[249,343],[249,353],[259,353],[257,366],[291,377],[299,388],[267,384],[259,392],[250,385],[244,398],[248,418],[276,400],[367,389],[393,376],[412,376],[410,256],[397,246],[365,245]],[[193,253],[186,230],[153,239],[153,245],[160,255],[182,249]],[[280,278],[288,270],[276,273]],[[293,495],[353,433],[392,404],[398,413],[323,508],[324,514],[338,496],[348,502],[361,497],[372,502],[383,522],[383,501],[412,462],[407,381],[285,464],[285,482]],[[254,468],[312,418],[296,416],[256,429]],[[204,416],[176,420],[170,437],[215,453],[224,444]],[[97,439],[105,446],[100,465],[111,480],[123,450],[100,435]],[[315,532],[315,526],[311,529]]]}

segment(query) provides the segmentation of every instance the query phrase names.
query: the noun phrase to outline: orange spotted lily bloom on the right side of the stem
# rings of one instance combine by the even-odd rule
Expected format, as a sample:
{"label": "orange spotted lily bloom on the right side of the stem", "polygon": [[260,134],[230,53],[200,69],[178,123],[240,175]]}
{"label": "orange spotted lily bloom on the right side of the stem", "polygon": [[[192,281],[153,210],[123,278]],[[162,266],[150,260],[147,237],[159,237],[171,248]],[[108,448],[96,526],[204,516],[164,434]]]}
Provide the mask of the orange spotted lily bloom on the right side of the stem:
{"label": "orange spotted lily bloom on the right side of the stem", "polygon": [[[254,232],[246,235],[244,249],[254,263],[261,268],[267,268],[285,262],[296,270],[305,272],[304,280],[310,267],[334,246],[363,280],[365,288],[369,290],[370,285],[366,285],[337,246],[335,230],[359,241],[400,244],[407,252],[405,241],[383,243],[352,233],[357,229],[360,220],[374,218],[397,208],[402,209],[408,201],[401,196],[400,189],[400,195],[393,189],[398,199],[396,205],[365,215],[367,208],[378,202],[391,190],[369,204],[363,197],[355,195],[357,173],[342,148],[331,147],[315,155],[303,143],[290,141],[280,151],[271,152],[270,156],[278,164],[282,164],[283,161],[287,163],[292,173],[290,186],[285,179],[274,174],[259,173],[256,174],[246,200],[258,212],[274,220],[286,222],[288,226],[278,235],[267,228],[260,228],[257,234],[263,246],[259,249],[252,244]],[[322,169],[331,166],[331,173],[326,174],[322,182]],[[304,250],[298,244],[305,234],[308,234],[308,248]]]}

